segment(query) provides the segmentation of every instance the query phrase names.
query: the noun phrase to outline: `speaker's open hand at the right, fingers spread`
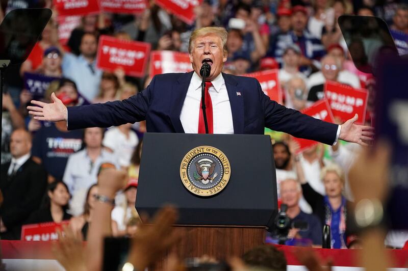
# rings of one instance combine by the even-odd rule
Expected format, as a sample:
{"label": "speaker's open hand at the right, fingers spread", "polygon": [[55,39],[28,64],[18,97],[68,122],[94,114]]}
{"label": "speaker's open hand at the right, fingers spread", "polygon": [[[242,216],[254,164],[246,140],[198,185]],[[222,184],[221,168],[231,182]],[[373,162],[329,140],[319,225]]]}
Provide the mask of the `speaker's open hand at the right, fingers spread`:
{"label": "speaker's open hand at the right, fingers spread", "polygon": [[374,127],[354,124],[358,119],[359,115],[355,114],[352,119],[341,125],[339,139],[368,146],[367,142],[373,140]]}

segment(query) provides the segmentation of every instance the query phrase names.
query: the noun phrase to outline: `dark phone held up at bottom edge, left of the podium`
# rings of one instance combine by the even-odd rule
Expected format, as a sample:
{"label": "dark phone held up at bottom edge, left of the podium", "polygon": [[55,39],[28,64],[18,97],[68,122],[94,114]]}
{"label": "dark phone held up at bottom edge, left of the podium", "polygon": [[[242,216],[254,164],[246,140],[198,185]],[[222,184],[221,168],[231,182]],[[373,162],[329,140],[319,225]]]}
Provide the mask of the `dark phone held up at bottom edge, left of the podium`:
{"label": "dark phone held up at bottom edge, left of the podium", "polygon": [[104,271],[122,270],[130,248],[129,237],[105,237],[104,239]]}

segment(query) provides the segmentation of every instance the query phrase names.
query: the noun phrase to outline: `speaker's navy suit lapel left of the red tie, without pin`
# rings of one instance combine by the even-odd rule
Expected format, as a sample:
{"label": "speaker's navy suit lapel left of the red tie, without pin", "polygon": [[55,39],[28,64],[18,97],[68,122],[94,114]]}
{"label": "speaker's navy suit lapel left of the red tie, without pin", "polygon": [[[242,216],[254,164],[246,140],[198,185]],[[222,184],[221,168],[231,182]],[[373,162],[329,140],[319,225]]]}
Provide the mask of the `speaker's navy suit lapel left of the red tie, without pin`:
{"label": "speaker's navy suit lapel left of the red tie, without pin", "polygon": [[180,121],[180,114],[192,76],[193,72],[183,73],[177,78],[177,83],[173,84],[171,88],[170,119],[175,132],[184,133],[183,125]]}

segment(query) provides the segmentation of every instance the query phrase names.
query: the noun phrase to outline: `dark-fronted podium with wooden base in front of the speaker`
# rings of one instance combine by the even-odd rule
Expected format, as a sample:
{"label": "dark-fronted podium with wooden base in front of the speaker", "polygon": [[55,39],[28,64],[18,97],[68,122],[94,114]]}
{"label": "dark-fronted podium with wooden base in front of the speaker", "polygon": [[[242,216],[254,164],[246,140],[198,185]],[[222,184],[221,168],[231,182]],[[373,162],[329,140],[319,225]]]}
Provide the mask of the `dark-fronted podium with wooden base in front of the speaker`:
{"label": "dark-fronted podium with wooden base in front of the speaker", "polygon": [[[209,157],[192,151],[200,147],[216,148],[222,152],[223,156],[219,157],[227,157],[230,164],[217,162],[214,156],[218,154],[213,151],[208,151],[214,154]],[[277,214],[276,175],[269,136],[146,133],[142,153],[136,209],[150,216],[166,203],[179,209],[179,220],[174,227],[182,238],[172,252],[180,259],[203,255],[227,259],[264,243],[265,227],[271,225]],[[189,161],[187,154],[191,154]],[[214,183],[197,181],[201,172],[195,157],[198,162],[214,159],[214,172],[218,175],[210,173],[211,176],[230,171],[229,181],[215,195],[196,195],[190,191],[191,185],[185,184],[183,163],[189,169],[191,183],[195,179],[199,189],[205,190],[206,185],[218,187],[216,177]],[[163,269],[161,264],[162,261],[155,269]]]}

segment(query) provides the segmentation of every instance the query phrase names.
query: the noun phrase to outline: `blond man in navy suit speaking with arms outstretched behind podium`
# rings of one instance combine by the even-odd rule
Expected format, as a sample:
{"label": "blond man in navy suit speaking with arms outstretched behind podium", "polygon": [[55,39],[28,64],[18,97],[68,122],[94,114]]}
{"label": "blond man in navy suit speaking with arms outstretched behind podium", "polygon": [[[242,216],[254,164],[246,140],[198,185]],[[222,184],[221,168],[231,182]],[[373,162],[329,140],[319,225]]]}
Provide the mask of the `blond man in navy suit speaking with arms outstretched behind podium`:
{"label": "blond man in navy suit speaking with arms outstretched behind podium", "polygon": [[329,145],[338,139],[363,145],[371,140],[371,127],[355,125],[356,116],[341,126],[323,122],[271,101],[254,78],[221,73],[227,35],[223,28],[195,30],[189,43],[194,72],[156,75],[144,91],[129,99],[67,109],[52,94],[53,103],[32,101],[38,106],[28,106],[29,113],[37,120],[65,120],[68,129],[146,120],[148,132],[202,133],[199,71],[207,62],[211,66],[205,92],[210,133],[263,134],[268,127]]}

